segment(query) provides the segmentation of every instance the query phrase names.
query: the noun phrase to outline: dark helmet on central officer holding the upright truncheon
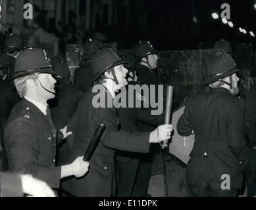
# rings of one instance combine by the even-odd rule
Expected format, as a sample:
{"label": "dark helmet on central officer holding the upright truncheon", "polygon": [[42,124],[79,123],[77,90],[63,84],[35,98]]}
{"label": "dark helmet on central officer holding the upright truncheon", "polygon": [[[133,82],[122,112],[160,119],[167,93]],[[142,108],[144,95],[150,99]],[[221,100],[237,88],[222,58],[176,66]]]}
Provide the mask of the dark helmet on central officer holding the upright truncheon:
{"label": "dark helmet on central officer holding the upright truncheon", "polygon": [[122,60],[112,49],[103,48],[97,51],[91,58],[91,70],[94,74],[94,80],[98,79],[107,70],[120,64],[127,64],[127,62]]}

